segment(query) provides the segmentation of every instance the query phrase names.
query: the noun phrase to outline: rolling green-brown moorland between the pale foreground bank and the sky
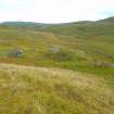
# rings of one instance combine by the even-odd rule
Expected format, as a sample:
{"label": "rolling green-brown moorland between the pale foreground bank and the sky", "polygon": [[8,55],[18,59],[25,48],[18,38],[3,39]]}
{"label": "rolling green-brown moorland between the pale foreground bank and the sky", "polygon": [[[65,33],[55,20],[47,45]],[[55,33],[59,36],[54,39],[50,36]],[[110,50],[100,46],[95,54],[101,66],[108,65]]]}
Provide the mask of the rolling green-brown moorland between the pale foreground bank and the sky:
{"label": "rolling green-brown moorland between the pale foreground bank and the sky", "polygon": [[[113,20],[59,25],[3,23],[0,25],[0,62],[63,67],[113,77]],[[18,50],[22,55],[14,55]]]}

